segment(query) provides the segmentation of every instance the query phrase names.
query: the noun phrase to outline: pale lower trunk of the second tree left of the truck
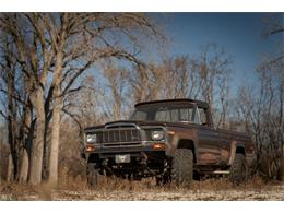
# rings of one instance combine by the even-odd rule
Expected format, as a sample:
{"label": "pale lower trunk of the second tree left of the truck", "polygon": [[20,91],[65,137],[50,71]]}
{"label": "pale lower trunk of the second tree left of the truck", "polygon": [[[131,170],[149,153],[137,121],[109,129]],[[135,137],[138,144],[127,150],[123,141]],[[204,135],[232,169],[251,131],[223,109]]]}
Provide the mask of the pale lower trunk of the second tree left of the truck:
{"label": "pale lower trunk of the second tree left of the truck", "polygon": [[45,134],[44,91],[40,86],[32,102],[36,111],[36,138],[32,144],[29,184],[38,185],[42,182]]}

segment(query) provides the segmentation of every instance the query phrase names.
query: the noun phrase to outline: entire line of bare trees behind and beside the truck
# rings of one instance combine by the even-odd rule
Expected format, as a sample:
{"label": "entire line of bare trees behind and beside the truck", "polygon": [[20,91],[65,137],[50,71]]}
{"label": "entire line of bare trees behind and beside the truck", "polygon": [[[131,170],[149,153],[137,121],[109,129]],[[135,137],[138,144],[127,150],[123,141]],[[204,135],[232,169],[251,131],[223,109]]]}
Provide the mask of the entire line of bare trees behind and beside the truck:
{"label": "entire line of bare trees behind and beside the truck", "polygon": [[127,118],[134,103],[161,98],[206,100],[216,128],[249,131],[259,168],[265,159],[265,177],[280,174],[282,58],[261,62],[253,86],[244,83],[233,96],[233,58],[216,44],[193,57],[149,62],[147,46],[163,48],[167,36],[146,14],[7,13],[0,34],[0,142],[11,153],[9,180],[56,184],[60,159],[79,157],[84,127]]}

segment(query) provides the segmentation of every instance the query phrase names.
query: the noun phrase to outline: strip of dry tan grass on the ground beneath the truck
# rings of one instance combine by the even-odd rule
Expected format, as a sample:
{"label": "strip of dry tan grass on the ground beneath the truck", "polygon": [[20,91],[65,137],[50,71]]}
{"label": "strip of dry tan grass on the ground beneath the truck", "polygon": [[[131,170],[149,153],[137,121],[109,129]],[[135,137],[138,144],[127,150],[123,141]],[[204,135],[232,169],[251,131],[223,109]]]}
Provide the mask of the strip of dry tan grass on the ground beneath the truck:
{"label": "strip of dry tan grass on the ground beneath the truck", "polygon": [[104,178],[90,189],[86,180],[61,175],[58,187],[1,182],[0,200],[284,200],[283,182],[264,182],[255,177],[233,186],[226,178],[193,181],[190,189],[157,187],[154,179],[128,181]]}

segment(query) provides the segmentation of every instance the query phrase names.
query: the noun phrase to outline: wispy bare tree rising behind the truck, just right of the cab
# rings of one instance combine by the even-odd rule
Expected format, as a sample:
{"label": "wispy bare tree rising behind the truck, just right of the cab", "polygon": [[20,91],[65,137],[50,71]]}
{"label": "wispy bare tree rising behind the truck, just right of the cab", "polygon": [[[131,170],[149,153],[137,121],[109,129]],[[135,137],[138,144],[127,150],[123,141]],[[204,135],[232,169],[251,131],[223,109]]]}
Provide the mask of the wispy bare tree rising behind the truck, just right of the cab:
{"label": "wispy bare tree rising behind the truck, just right of the cab", "polygon": [[[217,127],[226,121],[230,63],[230,57],[216,44],[206,45],[201,56],[192,60],[199,76],[200,97],[209,103]],[[222,115],[217,115],[218,108]]]}

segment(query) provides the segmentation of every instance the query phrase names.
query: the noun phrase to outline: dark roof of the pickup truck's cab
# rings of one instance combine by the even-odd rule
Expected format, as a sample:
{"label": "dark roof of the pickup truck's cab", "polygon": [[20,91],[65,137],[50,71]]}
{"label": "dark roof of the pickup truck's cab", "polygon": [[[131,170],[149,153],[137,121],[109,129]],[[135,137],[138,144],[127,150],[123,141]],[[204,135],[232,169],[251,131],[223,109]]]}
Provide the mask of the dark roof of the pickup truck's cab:
{"label": "dark roof of the pickup truck's cab", "polygon": [[209,108],[208,103],[197,99],[189,99],[189,98],[180,98],[180,99],[158,99],[158,100],[152,100],[152,102],[142,102],[135,104],[135,108],[144,105],[151,105],[151,104],[182,104],[182,103],[189,103],[189,104],[196,104],[201,108]]}

